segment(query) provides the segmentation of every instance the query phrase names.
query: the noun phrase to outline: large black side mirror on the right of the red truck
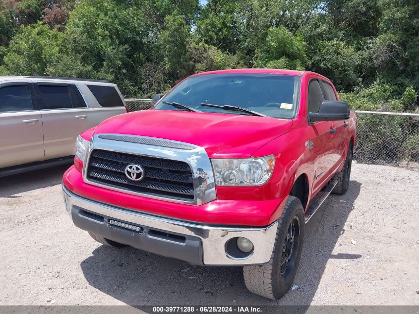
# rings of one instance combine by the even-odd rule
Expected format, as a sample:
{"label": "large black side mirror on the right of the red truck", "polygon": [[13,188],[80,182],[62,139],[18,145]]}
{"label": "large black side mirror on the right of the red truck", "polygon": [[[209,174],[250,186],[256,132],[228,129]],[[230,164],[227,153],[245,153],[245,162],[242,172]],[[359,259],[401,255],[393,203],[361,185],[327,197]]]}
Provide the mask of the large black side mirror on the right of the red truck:
{"label": "large black side mirror on the right of the red truck", "polygon": [[308,119],[311,122],[348,120],[350,114],[348,103],[344,101],[325,100],[320,105],[318,113],[308,113]]}

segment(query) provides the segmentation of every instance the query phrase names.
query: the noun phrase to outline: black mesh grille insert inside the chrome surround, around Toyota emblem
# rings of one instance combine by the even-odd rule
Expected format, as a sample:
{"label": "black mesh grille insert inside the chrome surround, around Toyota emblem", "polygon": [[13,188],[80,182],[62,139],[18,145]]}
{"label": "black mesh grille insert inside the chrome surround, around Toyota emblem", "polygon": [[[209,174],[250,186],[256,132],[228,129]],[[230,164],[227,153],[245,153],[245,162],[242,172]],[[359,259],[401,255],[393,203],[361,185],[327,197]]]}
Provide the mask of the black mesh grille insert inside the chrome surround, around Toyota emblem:
{"label": "black mesh grille insert inside the chrome surround, around Toyota emblem", "polygon": [[[142,166],[144,179],[134,181],[125,176],[129,164]],[[192,170],[182,161],[95,149],[90,153],[87,180],[146,195],[194,199]]]}

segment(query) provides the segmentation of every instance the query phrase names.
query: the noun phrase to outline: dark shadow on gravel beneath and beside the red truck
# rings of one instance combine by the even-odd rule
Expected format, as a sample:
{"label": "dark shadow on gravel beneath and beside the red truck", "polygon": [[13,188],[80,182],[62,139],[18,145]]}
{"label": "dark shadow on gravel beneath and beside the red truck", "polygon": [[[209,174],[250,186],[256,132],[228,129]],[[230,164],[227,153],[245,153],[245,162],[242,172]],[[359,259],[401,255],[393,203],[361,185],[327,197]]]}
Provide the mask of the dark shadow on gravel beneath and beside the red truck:
{"label": "dark shadow on gravel beneath and beside the red truck", "polygon": [[[294,284],[279,301],[248,292],[241,267],[200,267],[130,247],[100,246],[81,262],[89,284],[128,305],[299,305],[311,303],[330,258],[350,261],[359,254],[333,254],[361,184],[351,181],[345,195],[333,195],[305,228],[304,247]],[[92,240],[93,241],[93,240]],[[333,288],[331,288],[333,289]]]}

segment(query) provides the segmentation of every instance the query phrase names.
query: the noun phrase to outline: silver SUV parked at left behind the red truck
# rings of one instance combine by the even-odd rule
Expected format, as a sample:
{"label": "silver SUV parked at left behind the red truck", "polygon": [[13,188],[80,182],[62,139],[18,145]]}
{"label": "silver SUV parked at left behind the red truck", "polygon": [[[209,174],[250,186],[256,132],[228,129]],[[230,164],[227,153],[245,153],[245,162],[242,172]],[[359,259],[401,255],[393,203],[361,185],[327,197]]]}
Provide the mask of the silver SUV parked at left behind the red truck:
{"label": "silver SUV parked at left behind the red truck", "polygon": [[126,112],[107,81],[0,76],[0,177],[68,162],[80,132]]}

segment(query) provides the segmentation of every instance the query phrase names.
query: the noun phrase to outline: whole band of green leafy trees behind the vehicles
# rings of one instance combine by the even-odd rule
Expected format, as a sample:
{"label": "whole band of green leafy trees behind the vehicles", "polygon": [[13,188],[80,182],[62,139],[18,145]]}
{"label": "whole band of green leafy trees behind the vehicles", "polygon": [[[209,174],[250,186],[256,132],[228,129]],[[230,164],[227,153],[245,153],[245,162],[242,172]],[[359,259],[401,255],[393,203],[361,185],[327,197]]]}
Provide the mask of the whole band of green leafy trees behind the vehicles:
{"label": "whole band of green leafy trees behind the vehicles", "polygon": [[363,110],[415,110],[412,0],[0,0],[0,73],[108,79],[167,91],[199,71],[312,70]]}

